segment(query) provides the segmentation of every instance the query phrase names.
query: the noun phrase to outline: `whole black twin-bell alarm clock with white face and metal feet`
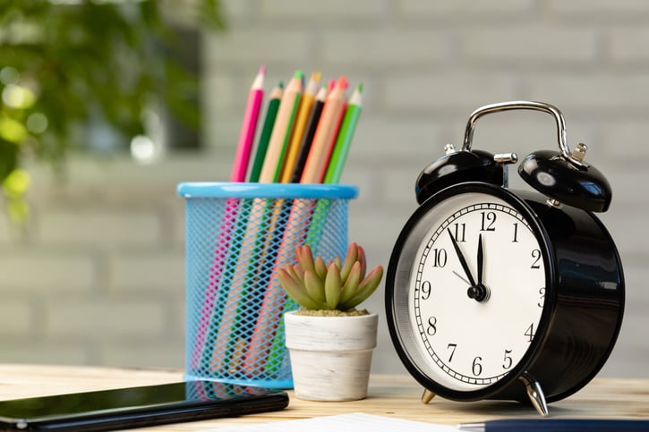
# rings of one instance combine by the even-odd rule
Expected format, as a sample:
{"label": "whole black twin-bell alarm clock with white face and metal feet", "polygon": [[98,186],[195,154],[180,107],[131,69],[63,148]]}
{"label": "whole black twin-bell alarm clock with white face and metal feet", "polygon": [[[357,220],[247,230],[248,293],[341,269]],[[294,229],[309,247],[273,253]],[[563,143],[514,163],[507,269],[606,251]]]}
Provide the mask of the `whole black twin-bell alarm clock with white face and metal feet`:
{"label": "whole black twin-bell alarm clock with white face and metal feet", "polygon": [[[559,151],[537,151],[518,173],[535,191],[508,189],[516,153],[472,149],[484,114],[551,114]],[[568,148],[555,106],[511,101],[471,114],[460,150],[447,145],[415,183],[420,204],[399,234],[386,275],[389,334],[409,373],[454,401],[531,401],[548,414],[608,359],[622,322],[624,275],[593,212],[611,186]]]}

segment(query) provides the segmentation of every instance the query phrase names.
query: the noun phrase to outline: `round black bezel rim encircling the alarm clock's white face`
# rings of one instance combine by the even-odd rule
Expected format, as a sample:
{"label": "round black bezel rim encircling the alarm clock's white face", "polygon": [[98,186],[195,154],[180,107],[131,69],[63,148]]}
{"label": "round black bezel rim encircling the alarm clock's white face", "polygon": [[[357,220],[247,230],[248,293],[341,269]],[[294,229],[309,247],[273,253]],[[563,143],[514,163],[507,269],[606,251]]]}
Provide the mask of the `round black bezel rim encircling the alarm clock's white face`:
{"label": "round black bezel rim encircling the alarm clock's white face", "polygon": [[[397,330],[397,319],[395,317],[394,305],[396,294],[395,280],[397,271],[400,270],[400,268],[397,268],[397,266],[399,264],[400,255],[404,252],[406,241],[409,240],[410,234],[414,231],[414,228],[417,226],[423,216],[425,216],[431,210],[431,208],[436,207],[441,202],[449,199],[450,197],[469,192],[484,193],[499,199],[503,199],[508,203],[508,205],[511,205],[522,216],[525,217],[525,220],[530,224],[530,227],[532,228],[535,238],[537,239],[537,241],[539,241],[539,246],[542,250],[542,258],[545,264],[546,286],[542,313],[541,317],[539,318],[539,325],[537,327],[534,340],[530,344],[530,347],[527,349],[523,357],[518,361],[517,365],[514,366],[505,377],[500,378],[499,381],[491,385],[487,385],[476,390],[464,391],[449,388],[447,385],[443,385],[437,382],[433,377],[429,377],[422,370],[422,368],[417,366],[416,360],[414,360],[411,353],[408,352],[409,347],[406,347],[406,344],[403,342],[400,330]],[[421,245],[421,242],[422,241],[420,240],[417,241],[414,245],[408,246],[411,246],[416,250]],[[429,199],[426,199],[421,204],[421,206],[419,206],[419,208],[415,209],[414,213],[408,218],[406,224],[399,233],[389,259],[389,267],[386,273],[386,318],[392,343],[397,350],[397,355],[402,364],[404,364],[408,372],[426,389],[430,390],[434,394],[439,394],[446,399],[455,401],[471,402],[482,399],[489,399],[492,395],[499,394],[504,389],[508,388],[509,385],[523,385],[518,381],[521,379],[521,377],[526,376],[528,370],[533,368],[535,360],[540,356],[542,347],[545,344],[548,335],[550,334],[552,316],[556,309],[558,295],[557,267],[555,263],[556,260],[551,248],[550,236],[543,228],[539,216],[537,216],[534,210],[525,203],[525,199],[519,197],[513,191],[485,182],[462,182],[448,186],[447,188],[431,195],[431,197]]]}

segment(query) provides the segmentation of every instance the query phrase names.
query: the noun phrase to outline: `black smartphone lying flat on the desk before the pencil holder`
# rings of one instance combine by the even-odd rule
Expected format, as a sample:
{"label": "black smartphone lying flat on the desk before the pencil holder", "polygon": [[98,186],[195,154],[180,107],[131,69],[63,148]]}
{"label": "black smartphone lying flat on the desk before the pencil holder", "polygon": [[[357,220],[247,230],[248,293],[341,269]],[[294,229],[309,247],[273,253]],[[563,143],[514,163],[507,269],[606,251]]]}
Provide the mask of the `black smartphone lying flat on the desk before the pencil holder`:
{"label": "black smartphone lying flat on the desk before the pencil holder", "polygon": [[0,430],[100,431],[286,408],[279,390],[186,381],[0,401]]}

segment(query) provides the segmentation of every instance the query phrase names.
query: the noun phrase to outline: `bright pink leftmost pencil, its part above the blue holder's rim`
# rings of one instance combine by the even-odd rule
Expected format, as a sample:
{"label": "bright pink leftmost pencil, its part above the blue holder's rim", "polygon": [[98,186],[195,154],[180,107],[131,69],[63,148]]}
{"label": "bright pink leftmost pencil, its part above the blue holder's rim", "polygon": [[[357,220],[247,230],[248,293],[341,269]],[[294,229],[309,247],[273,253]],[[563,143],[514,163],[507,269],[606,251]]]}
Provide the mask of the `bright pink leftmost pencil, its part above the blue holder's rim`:
{"label": "bright pink leftmost pencil, its part above the blue holder's rim", "polygon": [[259,120],[261,100],[264,96],[263,86],[265,74],[266,66],[262,64],[255,80],[252,82],[250,94],[248,95],[248,104],[243,114],[239,144],[236,147],[235,164],[232,166],[230,182],[245,181],[245,173],[248,169],[248,162],[250,161],[252,152],[252,141],[254,141],[257,121]]}

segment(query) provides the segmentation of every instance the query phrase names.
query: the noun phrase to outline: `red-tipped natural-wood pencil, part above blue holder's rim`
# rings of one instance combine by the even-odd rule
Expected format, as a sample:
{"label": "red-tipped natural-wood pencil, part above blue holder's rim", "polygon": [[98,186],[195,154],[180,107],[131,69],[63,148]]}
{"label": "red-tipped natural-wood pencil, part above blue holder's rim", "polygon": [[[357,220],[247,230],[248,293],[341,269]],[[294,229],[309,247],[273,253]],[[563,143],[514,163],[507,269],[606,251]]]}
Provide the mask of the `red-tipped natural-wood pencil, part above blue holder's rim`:
{"label": "red-tipped natural-wood pencil, part above blue holder's rim", "polygon": [[336,87],[329,93],[325,106],[322,108],[318,129],[313,136],[309,157],[306,158],[301,183],[317,183],[322,179],[326,166],[325,157],[331,143],[337,122],[343,106],[346,104],[346,77],[337,80]]}

